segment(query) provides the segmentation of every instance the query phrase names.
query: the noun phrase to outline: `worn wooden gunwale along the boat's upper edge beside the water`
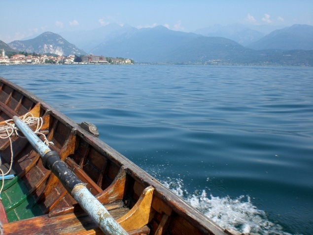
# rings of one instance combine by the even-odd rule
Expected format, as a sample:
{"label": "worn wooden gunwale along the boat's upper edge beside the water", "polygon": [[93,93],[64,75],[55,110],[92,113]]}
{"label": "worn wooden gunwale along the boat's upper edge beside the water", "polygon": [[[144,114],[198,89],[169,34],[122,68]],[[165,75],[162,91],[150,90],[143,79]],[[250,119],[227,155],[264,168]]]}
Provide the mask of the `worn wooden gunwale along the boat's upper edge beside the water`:
{"label": "worn wooden gunwale along the boat's upper edge beside the water", "polygon": [[[41,109],[44,112],[48,112],[49,115],[69,127],[71,130],[75,130],[75,134],[89,144],[93,149],[98,151],[100,154],[105,156],[108,160],[113,162],[119,167],[125,167],[126,172],[134,180],[140,182],[145,188],[152,186],[154,188],[153,196],[162,200],[167,206],[169,206],[178,216],[181,216],[186,221],[188,221],[195,228],[199,229],[203,234],[212,235],[225,235],[223,230],[217,226],[214,222],[209,220],[207,217],[202,215],[200,212],[196,211],[189,204],[183,201],[179,196],[174,195],[168,188],[163,186],[159,181],[150,176],[148,173],[139,168],[132,161],[109,147],[107,144],[99,140],[98,138],[92,136],[90,133],[82,129],[77,123],[72,121],[70,118],[66,117],[59,111],[55,110],[49,104],[45,103],[41,99],[37,98],[35,95],[29,91],[19,87],[18,85],[0,77],[1,82],[13,88],[17,92],[27,97],[32,102],[40,103]],[[95,182],[97,184],[97,182]],[[169,217],[170,220],[171,217]],[[162,223],[165,225],[168,222],[168,218],[164,217]]]}

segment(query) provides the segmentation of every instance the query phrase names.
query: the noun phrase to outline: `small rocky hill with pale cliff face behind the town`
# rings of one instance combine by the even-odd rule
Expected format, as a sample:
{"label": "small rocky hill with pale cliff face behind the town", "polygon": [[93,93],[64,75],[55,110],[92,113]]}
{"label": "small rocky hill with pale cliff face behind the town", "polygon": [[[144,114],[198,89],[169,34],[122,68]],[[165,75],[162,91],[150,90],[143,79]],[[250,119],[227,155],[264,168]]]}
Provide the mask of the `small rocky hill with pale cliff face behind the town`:
{"label": "small rocky hill with pale cliff face behind the town", "polygon": [[45,32],[34,39],[15,40],[8,45],[18,51],[35,52],[35,53],[52,53],[57,55],[84,55],[81,49],[71,44],[66,39],[52,32]]}

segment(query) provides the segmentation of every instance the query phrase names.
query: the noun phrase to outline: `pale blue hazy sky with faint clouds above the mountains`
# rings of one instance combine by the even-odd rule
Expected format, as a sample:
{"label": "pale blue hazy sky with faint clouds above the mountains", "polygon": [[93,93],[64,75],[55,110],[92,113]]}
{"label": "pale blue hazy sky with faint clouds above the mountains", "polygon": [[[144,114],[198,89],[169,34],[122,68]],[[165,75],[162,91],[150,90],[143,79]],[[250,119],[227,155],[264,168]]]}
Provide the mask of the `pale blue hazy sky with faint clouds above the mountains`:
{"label": "pale blue hazy sky with faint clouds above the mountains", "polygon": [[313,0],[1,0],[0,40],[108,23],[194,32],[214,24],[313,25]]}

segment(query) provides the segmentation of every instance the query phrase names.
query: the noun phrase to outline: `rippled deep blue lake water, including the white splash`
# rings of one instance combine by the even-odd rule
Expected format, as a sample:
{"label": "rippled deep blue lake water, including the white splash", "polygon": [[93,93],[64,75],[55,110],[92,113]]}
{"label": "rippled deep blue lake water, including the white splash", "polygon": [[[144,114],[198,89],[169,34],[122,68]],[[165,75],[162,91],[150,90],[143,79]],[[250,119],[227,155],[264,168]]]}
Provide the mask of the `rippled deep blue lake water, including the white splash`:
{"label": "rippled deep blue lake water, including the white splash", "polygon": [[313,234],[313,68],[0,66],[223,228]]}

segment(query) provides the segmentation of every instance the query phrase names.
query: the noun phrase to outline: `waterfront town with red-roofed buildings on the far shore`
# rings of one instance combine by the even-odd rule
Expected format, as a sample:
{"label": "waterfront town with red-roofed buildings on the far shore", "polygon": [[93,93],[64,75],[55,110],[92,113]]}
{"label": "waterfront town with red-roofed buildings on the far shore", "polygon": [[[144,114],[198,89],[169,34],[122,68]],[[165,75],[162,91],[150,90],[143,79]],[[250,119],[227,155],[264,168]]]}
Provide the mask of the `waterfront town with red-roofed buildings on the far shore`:
{"label": "waterfront town with red-roofed buildings on the far shore", "polygon": [[29,55],[15,54],[9,57],[5,55],[4,49],[1,50],[0,65],[18,64],[133,64],[133,61],[124,58],[106,58],[93,54],[77,57],[75,55],[52,56],[33,53]]}

